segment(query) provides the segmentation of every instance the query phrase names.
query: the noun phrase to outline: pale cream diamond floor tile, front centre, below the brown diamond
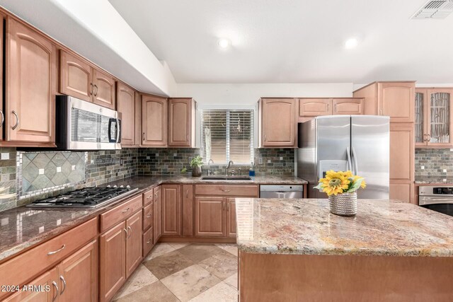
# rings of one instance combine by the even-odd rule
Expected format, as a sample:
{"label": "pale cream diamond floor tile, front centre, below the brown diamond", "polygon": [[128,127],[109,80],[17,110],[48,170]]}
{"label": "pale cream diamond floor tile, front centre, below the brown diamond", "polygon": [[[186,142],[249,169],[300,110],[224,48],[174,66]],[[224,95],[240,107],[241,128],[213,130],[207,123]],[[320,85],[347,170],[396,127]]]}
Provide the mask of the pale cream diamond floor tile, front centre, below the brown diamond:
{"label": "pale cream diamond floor tile, front centre, below the brown diamond", "polygon": [[220,279],[199,265],[192,265],[161,281],[180,301],[189,301],[219,283]]}

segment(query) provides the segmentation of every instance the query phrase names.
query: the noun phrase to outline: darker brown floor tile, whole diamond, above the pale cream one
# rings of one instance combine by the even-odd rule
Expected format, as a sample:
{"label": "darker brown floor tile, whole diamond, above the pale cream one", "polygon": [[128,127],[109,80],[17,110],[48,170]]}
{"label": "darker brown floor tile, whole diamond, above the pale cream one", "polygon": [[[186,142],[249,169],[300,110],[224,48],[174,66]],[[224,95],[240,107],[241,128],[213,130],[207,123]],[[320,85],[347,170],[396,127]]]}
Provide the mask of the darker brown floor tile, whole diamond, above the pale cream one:
{"label": "darker brown floor tile, whole diamond, above the pale cream one", "polygon": [[173,252],[167,252],[143,264],[160,280],[179,272],[181,269],[190,267],[194,262],[181,255],[180,252],[173,250]]}

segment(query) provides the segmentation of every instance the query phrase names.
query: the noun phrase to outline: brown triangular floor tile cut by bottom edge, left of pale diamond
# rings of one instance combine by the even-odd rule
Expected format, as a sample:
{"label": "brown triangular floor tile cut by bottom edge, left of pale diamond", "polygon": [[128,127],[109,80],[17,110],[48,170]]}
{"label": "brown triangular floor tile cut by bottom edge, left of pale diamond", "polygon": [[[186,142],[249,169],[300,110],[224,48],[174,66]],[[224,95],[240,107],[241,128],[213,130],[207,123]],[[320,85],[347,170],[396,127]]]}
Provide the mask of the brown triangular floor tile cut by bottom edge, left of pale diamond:
{"label": "brown triangular floor tile cut by bottom edge, left of pale diamond", "polygon": [[179,302],[179,300],[161,281],[156,281],[123,296],[117,302]]}

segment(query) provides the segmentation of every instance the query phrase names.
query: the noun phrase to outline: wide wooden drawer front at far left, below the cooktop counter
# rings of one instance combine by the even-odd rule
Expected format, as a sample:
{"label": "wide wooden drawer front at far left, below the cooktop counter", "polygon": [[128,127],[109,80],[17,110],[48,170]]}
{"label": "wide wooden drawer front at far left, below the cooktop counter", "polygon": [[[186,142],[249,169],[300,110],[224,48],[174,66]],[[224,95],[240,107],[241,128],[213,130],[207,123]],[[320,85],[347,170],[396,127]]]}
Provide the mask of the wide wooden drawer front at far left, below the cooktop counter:
{"label": "wide wooden drawer front at far left, below the cooktop counter", "polygon": [[[23,285],[46,268],[57,264],[98,234],[98,219],[82,223],[0,265],[0,284]],[[0,298],[6,296],[0,291]]]}

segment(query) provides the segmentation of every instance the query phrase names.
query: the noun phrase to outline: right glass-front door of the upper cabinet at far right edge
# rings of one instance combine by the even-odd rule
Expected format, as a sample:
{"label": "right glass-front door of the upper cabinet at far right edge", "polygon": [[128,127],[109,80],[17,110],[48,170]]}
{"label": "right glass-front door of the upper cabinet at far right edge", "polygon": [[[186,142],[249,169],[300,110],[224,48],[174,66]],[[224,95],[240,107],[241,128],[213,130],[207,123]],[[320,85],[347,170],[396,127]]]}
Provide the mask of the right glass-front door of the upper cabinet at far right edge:
{"label": "right glass-front door of the upper cabinet at far right edge", "polygon": [[453,146],[453,89],[428,89],[428,146]]}

